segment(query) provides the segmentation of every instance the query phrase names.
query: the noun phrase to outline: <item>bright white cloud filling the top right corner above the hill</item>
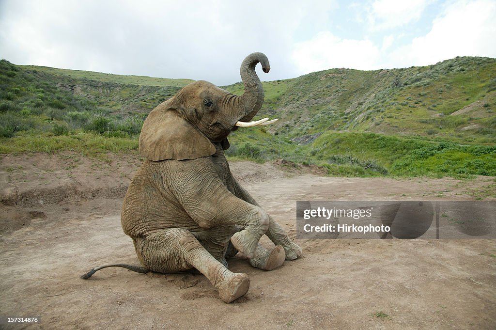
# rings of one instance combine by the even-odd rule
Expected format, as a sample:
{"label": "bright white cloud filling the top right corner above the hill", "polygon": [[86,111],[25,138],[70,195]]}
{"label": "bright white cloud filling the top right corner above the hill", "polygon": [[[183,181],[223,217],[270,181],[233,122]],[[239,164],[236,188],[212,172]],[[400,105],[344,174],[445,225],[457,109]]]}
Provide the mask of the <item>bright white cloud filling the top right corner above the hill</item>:
{"label": "bright white cloud filling the top right corner above the hill", "polygon": [[457,56],[496,57],[496,2],[457,1],[434,19],[431,31],[390,54],[396,66],[424,66]]}

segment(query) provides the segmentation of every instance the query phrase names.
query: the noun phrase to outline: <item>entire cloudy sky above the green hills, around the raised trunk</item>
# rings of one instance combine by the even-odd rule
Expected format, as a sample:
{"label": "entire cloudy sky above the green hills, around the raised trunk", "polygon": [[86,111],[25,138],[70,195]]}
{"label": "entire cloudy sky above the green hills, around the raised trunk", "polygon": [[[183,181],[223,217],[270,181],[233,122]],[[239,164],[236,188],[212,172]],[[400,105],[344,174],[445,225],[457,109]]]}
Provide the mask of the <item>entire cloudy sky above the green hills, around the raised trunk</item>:
{"label": "entire cloudy sky above the green hills, around the raised trunk", "polygon": [[496,58],[496,0],[0,0],[14,64],[225,85],[252,52],[262,80]]}

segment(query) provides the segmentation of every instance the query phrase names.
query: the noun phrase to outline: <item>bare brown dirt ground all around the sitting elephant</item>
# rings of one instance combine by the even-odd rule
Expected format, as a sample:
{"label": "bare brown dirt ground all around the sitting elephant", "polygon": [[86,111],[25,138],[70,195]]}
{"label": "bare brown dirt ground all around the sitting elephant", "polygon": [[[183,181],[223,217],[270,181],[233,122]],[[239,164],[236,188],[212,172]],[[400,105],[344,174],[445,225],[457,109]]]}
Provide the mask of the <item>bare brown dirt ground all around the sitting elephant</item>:
{"label": "bare brown dirt ground all around the sitting elephant", "polygon": [[[140,274],[120,209],[140,160],[72,153],[0,156],[0,329],[496,329],[496,241],[296,239],[301,259],[252,268],[222,302],[203,275]],[[330,178],[282,162],[231,164],[289,235],[297,200],[474,200],[494,178]],[[486,200],[496,200],[489,197]],[[263,244],[270,242],[264,239]]]}

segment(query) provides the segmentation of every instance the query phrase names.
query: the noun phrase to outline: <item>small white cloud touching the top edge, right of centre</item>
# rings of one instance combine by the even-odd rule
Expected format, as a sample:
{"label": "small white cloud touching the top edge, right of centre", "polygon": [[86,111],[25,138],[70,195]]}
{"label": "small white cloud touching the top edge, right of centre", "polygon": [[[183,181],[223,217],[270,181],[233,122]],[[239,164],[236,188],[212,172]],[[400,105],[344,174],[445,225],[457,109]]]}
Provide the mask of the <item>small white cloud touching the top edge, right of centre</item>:
{"label": "small white cloud touching the top edge, right of centre", "polygon": [[429,0],[375,0],[369,8],[372,30],[399,27],[418,20]]}

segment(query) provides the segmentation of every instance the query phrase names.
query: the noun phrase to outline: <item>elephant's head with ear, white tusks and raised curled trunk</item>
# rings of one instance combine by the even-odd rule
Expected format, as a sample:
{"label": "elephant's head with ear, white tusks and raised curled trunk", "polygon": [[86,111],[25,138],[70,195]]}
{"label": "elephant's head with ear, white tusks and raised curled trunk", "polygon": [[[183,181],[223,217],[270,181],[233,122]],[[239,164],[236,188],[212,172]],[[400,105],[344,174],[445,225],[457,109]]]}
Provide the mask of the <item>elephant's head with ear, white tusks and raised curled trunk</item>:
{"label": "elephant's head with ear, white tusks and raised curled trunk", "polygon": [[214,143],[229,148],[227,136],[237,126],[274,122],[267,119],[249,122],[263,103],[262,84],[255,73],[257,63],[264,72],[270,70],[264,54],[248,55],[240,70],[245,85],[242,96],[200,80],[158,105],[143,124],[139,153],[153,161],[210,156],[216,152]]}

